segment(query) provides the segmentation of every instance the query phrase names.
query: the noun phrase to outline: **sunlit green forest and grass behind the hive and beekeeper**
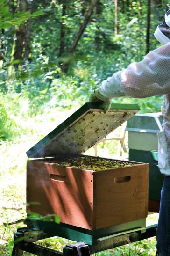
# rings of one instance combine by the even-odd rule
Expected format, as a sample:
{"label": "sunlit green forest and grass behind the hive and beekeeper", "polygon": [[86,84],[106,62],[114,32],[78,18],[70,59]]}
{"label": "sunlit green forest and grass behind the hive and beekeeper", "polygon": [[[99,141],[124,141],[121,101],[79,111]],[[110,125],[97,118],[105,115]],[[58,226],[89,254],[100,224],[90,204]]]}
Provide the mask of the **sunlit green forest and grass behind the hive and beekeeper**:
{"label": "sunlit green forest and grass behind the hive and beekeeper", "polygon": [[[154,31],[169,8],[168,0],[0,0],[0,255],[16,229],[7,223],[25,216],[25,152],[102,80],[160,46]],[[163,97],[113,102],[160,112]]]}

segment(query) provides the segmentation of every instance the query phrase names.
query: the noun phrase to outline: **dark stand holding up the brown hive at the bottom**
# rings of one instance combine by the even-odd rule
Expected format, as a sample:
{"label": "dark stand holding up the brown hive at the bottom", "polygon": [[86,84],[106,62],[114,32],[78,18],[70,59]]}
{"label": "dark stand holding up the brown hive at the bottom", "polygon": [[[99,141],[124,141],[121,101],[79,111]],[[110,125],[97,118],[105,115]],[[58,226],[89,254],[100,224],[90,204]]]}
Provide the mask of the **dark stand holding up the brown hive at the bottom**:
{"label": "dark stand holding up the brown hive at the bottom", "polygon": [[97,253],[106,249],[115,248],[121,245],[156,236],[156,227],[157,224],[146,227],[146,232],[144,233],[139,231],[134,232],[131,230],[131,233],[123,232],[122,234],[119,233],[101,237],[96,242],[96,245],[88,245],[83,242],[69,244],[64,247],[63,252],[52,250],[33,243],[35,241],[51,237],[50,234],[40,232],[36,233],[35,229],[30,230],[30,228],[28,229],[23,227],[19,228],[17,232],[14,233],[14,248],[12,256],[22,256],[24,251],[38,256],[90,256],[92,253]]}

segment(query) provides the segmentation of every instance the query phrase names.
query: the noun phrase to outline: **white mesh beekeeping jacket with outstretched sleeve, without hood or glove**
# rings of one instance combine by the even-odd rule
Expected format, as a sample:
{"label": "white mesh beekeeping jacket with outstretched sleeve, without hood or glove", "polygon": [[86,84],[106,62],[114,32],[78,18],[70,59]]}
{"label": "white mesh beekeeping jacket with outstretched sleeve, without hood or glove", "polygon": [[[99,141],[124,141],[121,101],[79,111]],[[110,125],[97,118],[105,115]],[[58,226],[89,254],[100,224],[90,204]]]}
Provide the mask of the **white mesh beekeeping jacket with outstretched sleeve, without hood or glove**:
{"label": "white mesh beekeeping jacket with outstretched sleeve, without hood or glove", "polygon": [[114,73],[100,84],[99,92],[107,98],[164,95],[163,130],[157,134],[158,166],[170,176],[170,43]]}

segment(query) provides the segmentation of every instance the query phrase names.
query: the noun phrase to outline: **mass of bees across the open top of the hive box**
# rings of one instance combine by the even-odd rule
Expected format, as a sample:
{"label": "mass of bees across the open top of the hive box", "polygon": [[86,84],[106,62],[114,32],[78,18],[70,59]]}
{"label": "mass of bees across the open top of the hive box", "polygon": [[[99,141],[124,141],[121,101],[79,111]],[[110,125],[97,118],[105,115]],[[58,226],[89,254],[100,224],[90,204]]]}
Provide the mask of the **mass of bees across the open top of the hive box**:
{"label": "mass of bees across the open top of the hive box", "polygon": [[44,159],[46,162],[55,163],[62,166],[70,166],[74,168],[86,169],[86,170],[106,170],[110,168],[122,168],[135,165],[135,163],[118,161],[113,159],[92,157],[92,156],[58,156],[54,158]]}

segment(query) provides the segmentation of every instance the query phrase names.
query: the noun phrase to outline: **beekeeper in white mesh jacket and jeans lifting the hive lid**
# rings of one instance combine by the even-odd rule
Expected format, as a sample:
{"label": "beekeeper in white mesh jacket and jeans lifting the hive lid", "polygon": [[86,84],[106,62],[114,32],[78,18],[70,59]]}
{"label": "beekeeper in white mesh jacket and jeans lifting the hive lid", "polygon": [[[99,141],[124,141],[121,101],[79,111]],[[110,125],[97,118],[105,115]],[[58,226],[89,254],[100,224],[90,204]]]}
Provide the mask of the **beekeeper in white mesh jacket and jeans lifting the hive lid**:
{"label": "beekeeper in white mesh jacket and jeans lifting the hive lid", "polygon": [[104,80],[91,94],[90,102],[104,103],[104,111],[107,112],[113,97],[164,95],[163,129],[157,137],[158,166],[165,179],[156,238],[159,256],[170,256],[170,10],[154,35],[163,46],[151,51],[142,61],[131,63]]}

